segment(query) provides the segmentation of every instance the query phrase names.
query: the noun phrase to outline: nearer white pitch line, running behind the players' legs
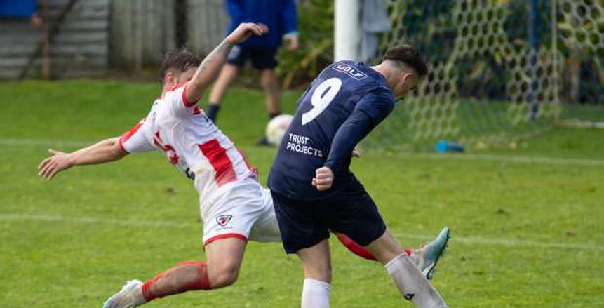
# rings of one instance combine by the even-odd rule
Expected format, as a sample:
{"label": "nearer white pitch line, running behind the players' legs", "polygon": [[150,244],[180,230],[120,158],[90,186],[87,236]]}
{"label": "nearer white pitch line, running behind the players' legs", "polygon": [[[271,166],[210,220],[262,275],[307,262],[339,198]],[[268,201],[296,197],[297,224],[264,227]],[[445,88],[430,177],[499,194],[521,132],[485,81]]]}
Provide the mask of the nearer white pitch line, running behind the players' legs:
{"label": "nearer white pitch line, running behind the players' legs", "polygon": [[[84,225],[102,224],[130,227],[166,227],[177,229],[199,228],[199,222],[175,222],[175,221],[160,221],[160,220],[115,220],[95,217],[63,217],[60,215],[24,215],[24,214],[0,214],[0,222],[10,221],[37,221],[37,222],[63,222],[76,223]],[[394,236],[403,239],[420,239],[427,241],[431,239],[430,235],[425,234],[406,234],[396,233]],[[534,248],[570,248],[582,250],[604,250],[604,246],[591,243],[546,243],[535,240],[523,239],[495,239],[481,236],[455,236],[452,234],[451,241],[454,243],[467,243],[484,246],[506,246],[506,247],[534,247]]]}

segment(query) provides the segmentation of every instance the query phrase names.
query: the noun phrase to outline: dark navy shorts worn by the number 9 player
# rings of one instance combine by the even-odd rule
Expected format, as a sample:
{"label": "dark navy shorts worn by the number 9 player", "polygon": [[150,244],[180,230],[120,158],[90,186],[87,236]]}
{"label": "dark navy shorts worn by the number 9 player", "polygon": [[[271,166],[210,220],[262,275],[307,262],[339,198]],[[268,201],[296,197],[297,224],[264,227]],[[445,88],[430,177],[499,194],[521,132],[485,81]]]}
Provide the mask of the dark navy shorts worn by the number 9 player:
{"label": "dark navy shorts worn by the number 9 player", "polygon": [[314,246],[328,239],[330,231],[346,234],[361,246],[386,232],[377,206],[358,182],[318,201],[290,199],[273,191],[271,195],[286,253]]}

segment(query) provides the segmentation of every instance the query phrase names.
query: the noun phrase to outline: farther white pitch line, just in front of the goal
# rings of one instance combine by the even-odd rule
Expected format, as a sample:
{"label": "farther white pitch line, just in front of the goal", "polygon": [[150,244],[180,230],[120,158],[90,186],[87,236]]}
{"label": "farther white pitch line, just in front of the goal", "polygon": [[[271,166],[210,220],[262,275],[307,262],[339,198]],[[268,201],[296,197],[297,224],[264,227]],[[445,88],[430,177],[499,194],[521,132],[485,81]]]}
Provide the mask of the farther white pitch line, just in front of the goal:
{"label": "farther white pitch line, just in front of the goal", "polygon": [[[29,140],[29,139],[0,139],[0,146],[24,146],[24,147],[85,147],[93,145],[93,141],[65,141],[65,140]],[[504,156],[491,154],[410,154],[403,153],[403,157],[428,158],[443,160],[462,161],[497,161],[508,163],[541,163],[549,165],[570,166],[603,166],[604,159],[576,159],[576,158],[553,158],[546,156]]]}

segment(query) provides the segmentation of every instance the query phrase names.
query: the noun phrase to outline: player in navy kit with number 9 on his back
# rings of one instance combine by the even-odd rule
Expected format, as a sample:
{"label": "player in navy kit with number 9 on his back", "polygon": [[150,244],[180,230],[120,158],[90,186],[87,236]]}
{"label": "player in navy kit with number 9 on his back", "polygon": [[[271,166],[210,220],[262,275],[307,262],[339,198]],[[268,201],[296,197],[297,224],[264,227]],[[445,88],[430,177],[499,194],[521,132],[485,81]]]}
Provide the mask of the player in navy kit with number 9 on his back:
{"label": "player in navy kit with number 9 on his back", "polygon": [[304,265],[302,308],[329,307],[329,230],[346,234],[373,253],[406,300],[417,307],[447,307],[391,236],[375,203],[349,170],[357,143],[426,74],[417,48],[399,44],[374,67],[333,63],[298,100],[268,185],[283,247],[297,253]]}

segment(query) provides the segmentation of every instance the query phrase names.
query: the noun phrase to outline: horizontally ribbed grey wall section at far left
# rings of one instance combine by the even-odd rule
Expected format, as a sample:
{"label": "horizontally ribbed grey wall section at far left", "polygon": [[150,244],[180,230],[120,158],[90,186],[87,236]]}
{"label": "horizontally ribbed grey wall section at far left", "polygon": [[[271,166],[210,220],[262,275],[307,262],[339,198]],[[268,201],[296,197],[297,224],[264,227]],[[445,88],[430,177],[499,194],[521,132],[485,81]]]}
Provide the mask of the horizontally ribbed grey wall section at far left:
{"label": "horizontally ribbed grey wall section at far left", "polygon": [[[104,74],[108,62],[109,1],[77,1],[63,20],[50,48],[51,77]],[[69,0],[46,0],[46,18],[55,22]],[[0,20],[0,78],[39,76],[40,59],[29,63],[39,49],[41,29],[27,19]]]}

